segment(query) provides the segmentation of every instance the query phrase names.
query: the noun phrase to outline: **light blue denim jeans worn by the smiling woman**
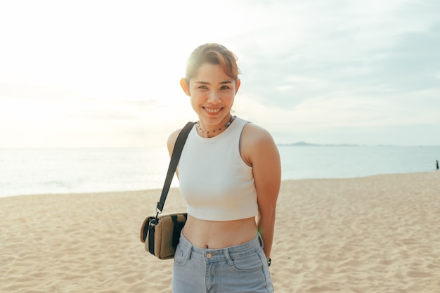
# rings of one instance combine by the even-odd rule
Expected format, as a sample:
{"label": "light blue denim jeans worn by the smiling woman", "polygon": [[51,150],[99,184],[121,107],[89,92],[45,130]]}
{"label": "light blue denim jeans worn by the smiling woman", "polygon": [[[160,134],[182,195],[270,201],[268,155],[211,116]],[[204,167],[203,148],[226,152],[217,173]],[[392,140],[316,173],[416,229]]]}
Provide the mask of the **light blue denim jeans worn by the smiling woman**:
{"label": "light blue denim jeans worn by the smiling woman", "polygon": [[172,292],[273,292],[261,237],[233,247],[204,249],[181,234],[174,255]]}

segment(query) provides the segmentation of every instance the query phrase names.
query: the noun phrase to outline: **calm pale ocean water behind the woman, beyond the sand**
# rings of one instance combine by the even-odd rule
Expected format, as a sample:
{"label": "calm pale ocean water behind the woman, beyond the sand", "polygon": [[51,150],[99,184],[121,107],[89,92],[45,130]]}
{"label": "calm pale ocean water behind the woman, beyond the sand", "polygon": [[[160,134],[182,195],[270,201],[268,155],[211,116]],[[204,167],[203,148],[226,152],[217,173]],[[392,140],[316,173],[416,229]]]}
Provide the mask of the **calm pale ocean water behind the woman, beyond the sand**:
{"label": "calm pale ocean water behind the woman, beyond the sand", "polygon": [[[440,159],[438,146],[278,149],[283,180],[429,172]],[[0,148],[0,197],[162,188],[168,164],[165,148]]]}

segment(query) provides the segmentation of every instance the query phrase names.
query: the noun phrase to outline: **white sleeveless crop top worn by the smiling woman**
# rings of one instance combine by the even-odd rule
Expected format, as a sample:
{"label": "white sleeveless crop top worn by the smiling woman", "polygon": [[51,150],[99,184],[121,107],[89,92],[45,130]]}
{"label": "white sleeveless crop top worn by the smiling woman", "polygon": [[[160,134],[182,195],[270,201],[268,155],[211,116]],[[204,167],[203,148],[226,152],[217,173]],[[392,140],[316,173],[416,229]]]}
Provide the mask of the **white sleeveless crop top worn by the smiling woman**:
{"label": "white sleeveless crop top worn by the smiling woman", "polygon": [[252,167],[240,156],[240,137],[247,123],[235,118],[213,138],[202,138],[195,127],[190,131],[179,161],[179,181],[191,216],[207,221],[257,216]]}

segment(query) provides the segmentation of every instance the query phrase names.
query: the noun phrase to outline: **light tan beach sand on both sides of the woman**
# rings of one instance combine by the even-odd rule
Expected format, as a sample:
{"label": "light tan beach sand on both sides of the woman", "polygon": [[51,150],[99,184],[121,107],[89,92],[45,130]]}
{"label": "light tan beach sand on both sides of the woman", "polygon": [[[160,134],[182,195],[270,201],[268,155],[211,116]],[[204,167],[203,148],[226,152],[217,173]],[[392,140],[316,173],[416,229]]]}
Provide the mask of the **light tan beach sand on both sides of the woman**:
{"label": "light tan beach sand on both sides of the woman", "polygon": [[[170,292],[138,239],[159,195],[0,198],[0,292]],[[440,172],[283,181],[271,257],[276,292],[440,292]]]}

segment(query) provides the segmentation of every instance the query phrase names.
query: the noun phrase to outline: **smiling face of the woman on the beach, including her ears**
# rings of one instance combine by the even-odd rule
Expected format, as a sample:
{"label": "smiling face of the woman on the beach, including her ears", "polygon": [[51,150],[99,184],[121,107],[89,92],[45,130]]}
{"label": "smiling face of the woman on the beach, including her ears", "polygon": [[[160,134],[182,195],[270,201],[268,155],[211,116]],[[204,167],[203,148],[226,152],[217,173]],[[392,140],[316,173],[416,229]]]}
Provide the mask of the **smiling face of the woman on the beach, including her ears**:
{"label": "smiling face of the woman on the beach, including her ears", "polygon": [[183,91],[190,96],[191,105],[199,116],[200,126],[205,131],[220,128],[231,117],[235,94],[240,79],[228,77],[220,65],[205,63],[192,77],[189,84],[181,80]]}

